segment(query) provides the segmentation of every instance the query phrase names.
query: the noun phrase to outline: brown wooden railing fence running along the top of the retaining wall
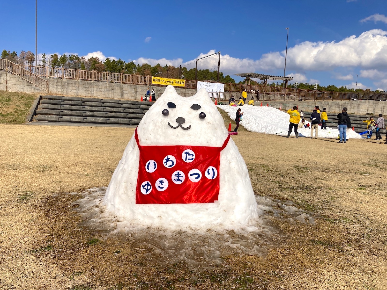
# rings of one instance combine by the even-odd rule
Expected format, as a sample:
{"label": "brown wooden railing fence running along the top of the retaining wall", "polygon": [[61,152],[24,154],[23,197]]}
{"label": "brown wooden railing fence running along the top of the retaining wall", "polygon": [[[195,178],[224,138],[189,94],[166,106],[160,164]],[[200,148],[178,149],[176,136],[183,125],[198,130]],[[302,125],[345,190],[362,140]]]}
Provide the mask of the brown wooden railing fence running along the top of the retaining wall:
{"label": "brown wooden railing fence running along the top of the retaining wall", "polygon": [[[9,60],[0,59],[0,70],[5,70],[21,76],[28,82],[48,91],[49,78],[70,80],[88,80],[91,82],[115,82],[120,84],[150,85],[151,77],[147,75],[129,75],[126,73],[97,72],[91,70],[74,70],[69,68],[40,67],[33,65],[17,65]],[[158,86],[152,84],[152,86]],[[185,80],[185,88],[197,89],[196,80]],[[210,93],[219,100],[226,100],[234,94],[239,99],[241,92],[247,90],[248,99],[253,96],[256,101],[342,101],[342,100],[377,100],[387,101],[387,94],[376,92],[326,92],[319,90],[290,89],[264,85],[224,84],[224,93]],[[192,95],[185,93],[185,95]]]}

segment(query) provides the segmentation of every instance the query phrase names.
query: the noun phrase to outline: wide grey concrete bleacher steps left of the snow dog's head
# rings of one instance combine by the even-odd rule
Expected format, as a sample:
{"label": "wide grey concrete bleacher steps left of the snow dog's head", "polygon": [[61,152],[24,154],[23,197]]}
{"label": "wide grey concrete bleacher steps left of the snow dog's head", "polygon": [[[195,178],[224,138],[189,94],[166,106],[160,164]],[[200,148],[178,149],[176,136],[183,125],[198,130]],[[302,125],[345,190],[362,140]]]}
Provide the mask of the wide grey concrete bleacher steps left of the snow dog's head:
{"label": "wide grey concrete bleacher steps left of the snow dog's head", "polygon": [[41,96],[34,121],[138,125],[153,102]]}

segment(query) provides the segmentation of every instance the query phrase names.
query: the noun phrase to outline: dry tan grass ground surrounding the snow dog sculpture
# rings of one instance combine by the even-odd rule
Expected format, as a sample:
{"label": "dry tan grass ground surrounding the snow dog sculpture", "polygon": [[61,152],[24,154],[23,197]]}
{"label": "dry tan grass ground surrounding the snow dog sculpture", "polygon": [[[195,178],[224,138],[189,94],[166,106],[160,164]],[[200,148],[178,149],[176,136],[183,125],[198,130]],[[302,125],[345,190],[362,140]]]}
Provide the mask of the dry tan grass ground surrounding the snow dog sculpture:
{"label": "dry tan grass ground surrounding the snow dog sculpture", "polygon": [[386,289],[387,145],[375,140],[240,126],[259,232],[112,234],[114,220],[91,219],[103,208],[79,200],[101,196],[134,129],[0,131],[1,289]]}

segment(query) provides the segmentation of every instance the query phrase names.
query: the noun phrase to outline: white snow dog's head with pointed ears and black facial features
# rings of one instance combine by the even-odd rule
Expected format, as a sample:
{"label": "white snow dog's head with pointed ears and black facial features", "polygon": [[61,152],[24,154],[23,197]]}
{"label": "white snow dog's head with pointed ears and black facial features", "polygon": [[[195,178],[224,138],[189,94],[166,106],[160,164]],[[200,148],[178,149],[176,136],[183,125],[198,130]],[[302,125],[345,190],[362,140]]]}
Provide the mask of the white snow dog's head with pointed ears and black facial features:
{"label": "white snow dog's head with pointed ears and black facial features", "polygon": [[228,132],[217,107],[204,88],[181,97],[172,85],[142,118],[137,133],[141,145],[221,147]]}

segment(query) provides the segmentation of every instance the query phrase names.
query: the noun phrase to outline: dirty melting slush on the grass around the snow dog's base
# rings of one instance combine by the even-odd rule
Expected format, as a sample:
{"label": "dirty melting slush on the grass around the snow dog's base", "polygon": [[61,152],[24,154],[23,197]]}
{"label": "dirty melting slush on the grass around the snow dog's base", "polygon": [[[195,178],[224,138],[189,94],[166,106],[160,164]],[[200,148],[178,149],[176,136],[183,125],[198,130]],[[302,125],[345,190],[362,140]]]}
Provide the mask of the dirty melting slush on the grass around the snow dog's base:
{"label": "dirty melting slush on the grass around the snow dog's base", "polygon": [[[147,248],[146,256],[160,264],[188,264],[193,270],[201,266],[220,265],[224,256],[263,256],[270,246],[281,244],[286,237],[270,225],[273,218],[286,222],[315,224],[315,219],[291,201],[256,196],[257,206],[264,212],[263,222],[240,230],[210,229],[166,230],[131,225],[105,211],[103,197],[106,187],[91,188],[82,199],[72,203],[80,214],[82,227],[98,231],[101,239],[116,238],[130,242],[133,248]],[[70,193],[79,194],[79,193]]]}

